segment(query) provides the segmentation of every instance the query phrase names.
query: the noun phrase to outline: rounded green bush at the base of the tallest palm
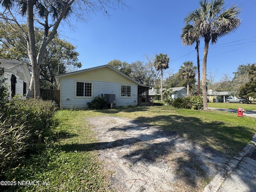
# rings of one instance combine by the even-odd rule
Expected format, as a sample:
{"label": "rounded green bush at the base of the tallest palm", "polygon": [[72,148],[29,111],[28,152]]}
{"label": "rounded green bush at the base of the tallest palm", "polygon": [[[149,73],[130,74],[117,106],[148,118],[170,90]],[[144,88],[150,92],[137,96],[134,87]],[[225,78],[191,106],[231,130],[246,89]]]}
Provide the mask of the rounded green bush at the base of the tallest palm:
{"label": "rounded green bush at the base of the tallest palm", "polygon": [[172,102],[172,106],[175,108],[184,108],[184,109],[202,109],[203,100],[202,96],[193,96],[193,97],[184,97],[176,98]]}

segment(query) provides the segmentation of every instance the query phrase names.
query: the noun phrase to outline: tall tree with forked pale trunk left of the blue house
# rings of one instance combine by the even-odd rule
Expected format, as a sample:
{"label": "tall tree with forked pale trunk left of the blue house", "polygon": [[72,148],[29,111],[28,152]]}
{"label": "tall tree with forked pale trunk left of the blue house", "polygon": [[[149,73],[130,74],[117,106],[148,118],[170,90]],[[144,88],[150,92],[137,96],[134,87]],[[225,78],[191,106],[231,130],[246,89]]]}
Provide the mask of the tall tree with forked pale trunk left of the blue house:
{"label": "tall tree with forked pale trunk left of the blue house", "polygon": [[[28,94],[34,90],[34,97],[40,97],[40,65],[44,58],[46,46],[57,34],[57,29],[62,20],[74,13],[79,19],[85,20],[90,12],[115,8],[124,5],[122,0],[1,0],[3,12],[0,12],[1,20],[7,24],[16,24],[19,30],[16,32],[26,40],[28,56],[32,66],[32,78]],[[18,14],[19,13],[19,14]],[[27,29],[22,29],[26,23]],[[44,35],[40,39],[40,48],[36,51],[35,26],[41,26]]]}

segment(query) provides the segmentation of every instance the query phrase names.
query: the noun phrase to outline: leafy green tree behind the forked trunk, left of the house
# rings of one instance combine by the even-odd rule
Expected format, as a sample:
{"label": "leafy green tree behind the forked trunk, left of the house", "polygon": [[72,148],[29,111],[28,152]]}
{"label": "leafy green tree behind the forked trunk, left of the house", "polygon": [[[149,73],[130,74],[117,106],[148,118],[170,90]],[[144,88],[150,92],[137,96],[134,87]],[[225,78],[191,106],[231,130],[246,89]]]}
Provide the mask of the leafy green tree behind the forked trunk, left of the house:
{"label": "leafy green tree behind the forked trunk, left of the house", "polygon": [[[26,61],[31,69],[28,51],[26,50],[26,40],[15,32],[15,30],[18,30],[17,26],[0,22],[0,27],[0,57]],[[26,30],[25,25],[22,25],[22,28]],[[38,28],[35,28],[34,32],[36,36],[36,51],[38,51],[43,32]],[[42,64],[40,65],[40,88],[53,89],[55,75],[74,71],[82,66],[78,62],[77,56],[79,54],[75,49],[75,46],[66,40],[61,40],[57,35],[46,46]]]}

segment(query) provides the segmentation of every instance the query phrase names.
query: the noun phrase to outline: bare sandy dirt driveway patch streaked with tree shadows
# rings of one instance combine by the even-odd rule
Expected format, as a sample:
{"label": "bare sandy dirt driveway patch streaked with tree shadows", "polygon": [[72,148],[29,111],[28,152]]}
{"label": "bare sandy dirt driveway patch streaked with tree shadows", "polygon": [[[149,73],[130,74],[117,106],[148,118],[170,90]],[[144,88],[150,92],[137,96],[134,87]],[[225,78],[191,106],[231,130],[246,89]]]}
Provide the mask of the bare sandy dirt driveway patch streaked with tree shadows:
{"label": "bare sandy dirt driveway patch streaked with tree shadows", "polygon": [[116,192],[198,192],[229,160],[175,132],[126,118],[86,121],[98,136],[99,157]]}

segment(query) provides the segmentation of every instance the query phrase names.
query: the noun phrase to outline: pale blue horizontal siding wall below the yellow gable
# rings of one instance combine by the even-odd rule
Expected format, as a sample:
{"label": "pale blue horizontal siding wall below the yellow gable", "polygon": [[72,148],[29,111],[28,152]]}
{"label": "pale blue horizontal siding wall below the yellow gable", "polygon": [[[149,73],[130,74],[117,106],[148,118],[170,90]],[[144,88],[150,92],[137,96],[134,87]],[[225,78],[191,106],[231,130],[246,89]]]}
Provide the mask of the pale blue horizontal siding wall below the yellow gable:
{"label": "pale blue horizontal siding wall below the yellow gable", "polygon": [[[76,81],[79,82],[92,82],[92,98],[76,98]],[[61,107],[62,108],[87,108],[87,102],[91,102],[93,98],[100,94],[115,94],[116,106],[128,106],[137,105],[138,86],[136,84],[122,84],[130,85],[132,87],[132,93],[130,98],[121,98],[121,84],[116,82],[100,82],[100,81],[86,81],[75,80],[69,78],[61,78]],[[68,100],[67,100],[68,99]],[[135,101],[135,102],[134,102]]]}

